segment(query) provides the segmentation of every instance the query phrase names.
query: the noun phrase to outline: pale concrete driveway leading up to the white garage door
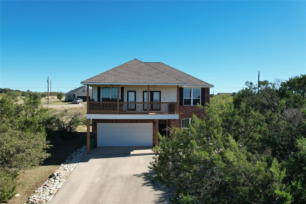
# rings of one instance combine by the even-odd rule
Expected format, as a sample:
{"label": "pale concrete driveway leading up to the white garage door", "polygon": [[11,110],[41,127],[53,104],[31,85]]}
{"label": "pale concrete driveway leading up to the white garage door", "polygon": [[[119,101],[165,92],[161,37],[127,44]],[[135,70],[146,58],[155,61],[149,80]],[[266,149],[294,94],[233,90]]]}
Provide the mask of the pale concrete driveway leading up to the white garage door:
{"label": "pale concrete driveway leading up to the white garage door", "polygon": [[144,177],[152,156],[150,147],[92,149],[50,203],[169,203],[166,187]]}

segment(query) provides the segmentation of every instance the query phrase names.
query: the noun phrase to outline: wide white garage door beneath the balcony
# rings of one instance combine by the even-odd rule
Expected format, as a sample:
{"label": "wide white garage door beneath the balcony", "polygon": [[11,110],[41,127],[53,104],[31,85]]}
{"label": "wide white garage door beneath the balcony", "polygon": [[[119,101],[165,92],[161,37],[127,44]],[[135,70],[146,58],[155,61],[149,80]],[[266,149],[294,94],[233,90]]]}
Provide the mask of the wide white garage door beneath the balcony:
{"label": "wide white garage door beneath the balcony", "polygon": [[98,123],[98,147],[152,146],[152,123]]}

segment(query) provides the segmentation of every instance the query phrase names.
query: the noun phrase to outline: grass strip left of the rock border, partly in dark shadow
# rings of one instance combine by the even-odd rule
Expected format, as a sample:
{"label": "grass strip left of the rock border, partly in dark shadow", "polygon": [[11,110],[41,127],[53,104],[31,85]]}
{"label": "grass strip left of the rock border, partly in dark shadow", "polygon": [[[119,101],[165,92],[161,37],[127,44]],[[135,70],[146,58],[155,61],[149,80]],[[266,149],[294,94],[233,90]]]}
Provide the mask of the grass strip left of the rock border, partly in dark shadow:
{"label": "grass strip left of the rock border, partly in dark shadow", "polygon": [[[84,127],[80,127],[79,131],[83,129]],[[25,203],[36,188],[42,185],[66,160],[68,153],[73,153],[76,149],[86,144],[86,132],[66,134],[49,132],[47,140],[53,145],[48,149],[48,153],[51,156],[41,166],[20,173],[16,189],[16,193],[20,194],[20,196],[13,197],[7,203]]]}

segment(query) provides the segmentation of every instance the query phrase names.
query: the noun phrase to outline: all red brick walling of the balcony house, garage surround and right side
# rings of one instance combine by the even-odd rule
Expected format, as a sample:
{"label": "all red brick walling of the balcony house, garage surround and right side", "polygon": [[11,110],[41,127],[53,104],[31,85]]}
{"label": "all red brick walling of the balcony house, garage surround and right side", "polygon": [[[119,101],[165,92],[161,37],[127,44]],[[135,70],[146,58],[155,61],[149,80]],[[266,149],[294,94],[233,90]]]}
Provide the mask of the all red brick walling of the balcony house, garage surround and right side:
{"label": "all red brick walling of the balcony house, garage surround and right side", "polygon": [[[177,92],[179,99],[180,93]],[[209,103],[209,88],[205,88],[205,103]],[[179,103],[180,100],[178,100]],[[200,119],[202,119],[206,114],[203,110],[197,106],[184,106],[179,105],[178,107],[179,118],[178,118],[178,127],[181,128],[181,121],[185,118],[192,118],[192,115],[195,114]],[[97,123],[153,123],[153,146],[155,146],[155,137],[156,137],[156,127],[155,119],[92,119],[92,136],[95,138],[94,146],[97,147]],[[167,126],[172,128],[175,127],[176,119],[168,119]],[[158,125],[158,124],[157,124]],[[168,132],[169,133],[169,132]],[[168,134],[168,136],[170,136]]]}

